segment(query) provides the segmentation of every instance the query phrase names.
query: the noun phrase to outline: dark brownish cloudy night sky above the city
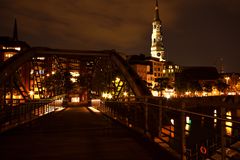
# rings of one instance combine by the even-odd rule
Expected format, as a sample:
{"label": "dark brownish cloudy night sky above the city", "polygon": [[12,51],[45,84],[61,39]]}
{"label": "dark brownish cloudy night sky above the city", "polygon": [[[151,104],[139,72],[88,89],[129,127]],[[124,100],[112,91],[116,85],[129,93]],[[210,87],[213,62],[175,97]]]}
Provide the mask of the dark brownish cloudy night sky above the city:
{"label": "dark brownish cloudy night sky above the city", "polygon": [[[0,0],[0,36],[31,46],[150,55],[155,0]],[[167,58],[240,72],[240,0],[160,0]]]}

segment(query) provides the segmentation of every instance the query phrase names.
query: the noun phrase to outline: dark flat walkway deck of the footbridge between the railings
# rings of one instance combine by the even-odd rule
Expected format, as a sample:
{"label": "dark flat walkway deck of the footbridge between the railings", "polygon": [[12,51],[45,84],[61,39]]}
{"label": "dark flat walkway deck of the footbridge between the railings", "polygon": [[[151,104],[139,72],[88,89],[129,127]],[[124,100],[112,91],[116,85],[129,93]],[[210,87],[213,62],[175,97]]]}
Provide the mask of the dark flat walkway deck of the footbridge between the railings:
{"label": "dark flat walkway deck of the footbridge between the railings", "polygon": [[0,135],[0,159],[173,159],[86,107],[71,107]]}

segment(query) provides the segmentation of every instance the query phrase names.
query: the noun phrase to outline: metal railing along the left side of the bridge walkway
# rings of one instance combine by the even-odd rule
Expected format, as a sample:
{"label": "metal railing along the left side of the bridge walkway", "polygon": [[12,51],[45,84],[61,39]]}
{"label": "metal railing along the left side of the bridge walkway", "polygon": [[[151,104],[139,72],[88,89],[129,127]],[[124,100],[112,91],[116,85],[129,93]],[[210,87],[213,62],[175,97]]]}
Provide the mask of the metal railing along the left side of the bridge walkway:
{"label": "metal railing along the left side of the bridge walkway", "polygon": [[51,99],[30,101],[18,106],[3,106],[0,110],[0,133],[48,113],[63,109],[63,97],[64,95],[59,95]]}

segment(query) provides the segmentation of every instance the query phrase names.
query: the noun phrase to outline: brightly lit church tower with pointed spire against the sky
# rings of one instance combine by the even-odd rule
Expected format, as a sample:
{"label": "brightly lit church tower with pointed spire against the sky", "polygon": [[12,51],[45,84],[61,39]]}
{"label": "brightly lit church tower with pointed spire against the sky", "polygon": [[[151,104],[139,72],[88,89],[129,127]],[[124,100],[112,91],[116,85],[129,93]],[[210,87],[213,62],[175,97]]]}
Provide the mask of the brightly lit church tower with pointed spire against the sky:
{"label": "brightly lit church tower with pointed spire against the sky", "polygon": [[152,45],[151,45],[151,57],[158,58],[159,61],[166,61],[165,52],[163,47],[163,36],[161,33],[161,20],[159,18],[158,0],[156,0],[155,17],[152,23]]}

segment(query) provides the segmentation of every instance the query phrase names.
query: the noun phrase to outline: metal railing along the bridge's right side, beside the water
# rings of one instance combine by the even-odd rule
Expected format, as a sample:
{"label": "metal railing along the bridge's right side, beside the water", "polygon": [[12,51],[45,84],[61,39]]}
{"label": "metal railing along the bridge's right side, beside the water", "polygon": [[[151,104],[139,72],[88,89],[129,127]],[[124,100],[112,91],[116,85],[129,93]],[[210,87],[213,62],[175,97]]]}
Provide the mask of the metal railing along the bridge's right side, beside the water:
{"label": "metal railing along the bridge's right side, beside the water", "polygon": [[[234,116],[226,117],[227,104],[222,102],[220,106],[212,98],[211,103],[206,103],[204,99],[204,105],[210,108],[199,112],[186,106],[185,100],[123,98],[102,101],[97,109],[145,135],[179,159],[226,159],[240,154],[240,122]],[[227,127],[231,128],[231,135],[227,134]],[[229,154],[229,150],[234,154]]]}

